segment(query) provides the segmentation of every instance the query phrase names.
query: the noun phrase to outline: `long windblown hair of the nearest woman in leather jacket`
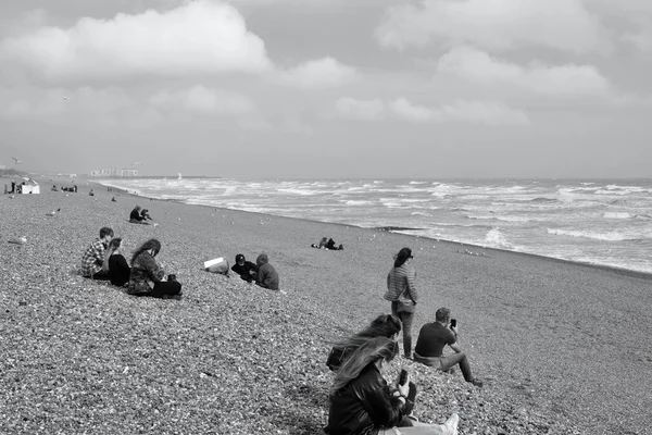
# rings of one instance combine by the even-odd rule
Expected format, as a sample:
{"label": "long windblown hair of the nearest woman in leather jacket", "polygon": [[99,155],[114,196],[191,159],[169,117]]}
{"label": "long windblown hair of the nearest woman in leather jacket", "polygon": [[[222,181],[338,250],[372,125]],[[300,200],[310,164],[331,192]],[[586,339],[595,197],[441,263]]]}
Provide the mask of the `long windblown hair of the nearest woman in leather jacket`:
{"label": "long windblown hair of the nearest woman in leather jacket", "polygon": [[336,395],[340,389],[353,381],[369,364],[378,360],[391,361],[399,355],[397,341],[387,337],[375,337],[366,340],[349,357],[335,375],[330,395]]}

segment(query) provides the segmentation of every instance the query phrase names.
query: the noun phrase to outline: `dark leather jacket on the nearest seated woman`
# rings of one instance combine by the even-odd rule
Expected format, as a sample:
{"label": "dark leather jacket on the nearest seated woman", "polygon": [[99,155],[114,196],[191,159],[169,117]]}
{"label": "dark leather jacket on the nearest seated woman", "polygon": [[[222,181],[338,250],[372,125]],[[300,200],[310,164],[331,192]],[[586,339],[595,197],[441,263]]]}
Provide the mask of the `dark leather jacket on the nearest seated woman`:
{"label": "dark leather jacket on the nearest seated woman", "polygon": [[356,378],[330,396],[329,435],[375,435],[394,427],[403,418],[403,401],[393,397],[389,385],[371,363]]}

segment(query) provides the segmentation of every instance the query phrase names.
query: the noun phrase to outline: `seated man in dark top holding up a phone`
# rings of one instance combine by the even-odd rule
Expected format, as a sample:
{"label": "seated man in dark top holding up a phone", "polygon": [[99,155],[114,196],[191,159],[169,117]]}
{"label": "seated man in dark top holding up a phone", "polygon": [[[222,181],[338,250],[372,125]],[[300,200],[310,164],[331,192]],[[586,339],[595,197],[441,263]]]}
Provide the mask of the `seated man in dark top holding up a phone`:
{"label": "seated man in dark top holding up a phone", "polygon": [[[443,348],[446,345],[449,345],[455,353],[444,357]],[[435,322],[426,323],[421,328],[414,349],[414,361],[442,372],[448,372],[454,365],[460,364],[462,375],[466,382],[478,387],[482,386],[482,381],[473,377],[471,373],[468,359],[457,344],[457,326],[451,324],[451,310],[448,308],[437,310]]]}

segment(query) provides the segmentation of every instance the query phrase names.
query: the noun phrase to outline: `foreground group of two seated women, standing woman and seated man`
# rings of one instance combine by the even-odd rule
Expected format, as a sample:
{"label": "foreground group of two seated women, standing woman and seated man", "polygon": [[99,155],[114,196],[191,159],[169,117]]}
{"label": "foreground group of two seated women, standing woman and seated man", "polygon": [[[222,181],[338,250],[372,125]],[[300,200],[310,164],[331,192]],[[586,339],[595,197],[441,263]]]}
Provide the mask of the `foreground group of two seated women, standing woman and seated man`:
{"label": "foreground group of two seated women, standing woman and seated man", "polygon": [[[446,423],[437,425],[424,424],[414,418],[416,385],[404,369],[392,385],[385,380],[385,372],[399,355],[401,330],[406,359],[441,372],[451,372],[459,365],[466,382],[482,386],[471,372],[468,359],[457,344],[456,321],[451,319],[451,310],[446,307],[437,310],[435,322],[421,328],[413,352],[412,323],[418,301],[416,272],[410,264],[413,258],[410,248],[401,249],[387,275],[384,298],[390,302],[391,314],[379,315],[362,332],[336,344],[328,355],[326,364],[335,372],[328,425],[324,428],[329,435],[366,435],[381,431],[405,435],[457,434],[459,415],[455,413]],[[446,346],[454,353],[444,357]]]}

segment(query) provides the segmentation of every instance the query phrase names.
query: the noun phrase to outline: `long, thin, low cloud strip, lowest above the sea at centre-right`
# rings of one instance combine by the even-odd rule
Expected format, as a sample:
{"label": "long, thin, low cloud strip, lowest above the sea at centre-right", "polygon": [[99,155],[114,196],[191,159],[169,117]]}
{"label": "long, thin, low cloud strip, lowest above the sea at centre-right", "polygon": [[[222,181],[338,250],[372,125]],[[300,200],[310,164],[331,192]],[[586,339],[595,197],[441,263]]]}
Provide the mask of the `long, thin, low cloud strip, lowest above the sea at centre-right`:
{"label": "long, thin, low cloud strip, lowest above the sea at centre-right", "polygon": [[363,121],[380,121],[391,117],[419,124],[451,122],[490,126],[530,124],[524,112],[511,109],[500,101],[456,100],[439,108],[429,108],[414,104],[404,97],[389,102],[379,99],[356,100],[347,97],[336,102],[336,110],[342,117]]}

